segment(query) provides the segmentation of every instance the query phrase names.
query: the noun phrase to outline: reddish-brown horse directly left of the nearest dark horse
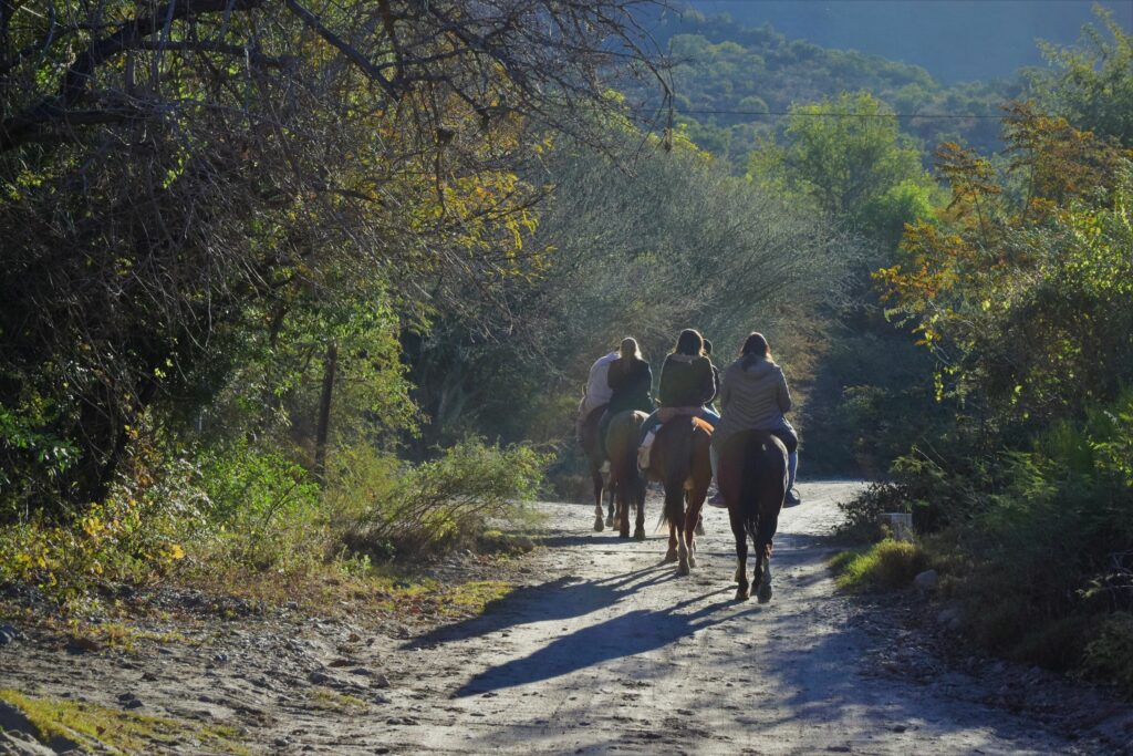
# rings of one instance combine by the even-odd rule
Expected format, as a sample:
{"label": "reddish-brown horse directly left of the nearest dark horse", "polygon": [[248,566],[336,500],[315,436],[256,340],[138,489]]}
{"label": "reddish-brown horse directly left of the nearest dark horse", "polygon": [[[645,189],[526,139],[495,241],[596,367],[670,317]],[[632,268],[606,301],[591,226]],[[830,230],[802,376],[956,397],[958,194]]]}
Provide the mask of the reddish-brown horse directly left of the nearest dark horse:
{"label": "reddish-brown horse directly left of the nearest dark horse", "polygon": [[657,431],[649,455],[648,474],[665,487],[668,524],[666,562],[679,562],[678,575],[696,567],[693,530],[712,483],[712,426],[698,417],[676,416]]}

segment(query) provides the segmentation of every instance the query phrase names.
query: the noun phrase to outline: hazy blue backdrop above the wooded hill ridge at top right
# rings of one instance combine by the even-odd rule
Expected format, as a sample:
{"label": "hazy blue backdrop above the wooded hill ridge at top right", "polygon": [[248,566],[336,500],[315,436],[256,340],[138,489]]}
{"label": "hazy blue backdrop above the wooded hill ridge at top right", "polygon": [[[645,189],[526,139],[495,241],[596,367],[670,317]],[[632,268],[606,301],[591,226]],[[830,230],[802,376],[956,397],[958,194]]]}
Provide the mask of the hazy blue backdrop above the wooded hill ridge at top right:
{"label": "hazy blue backdrop above the wooded hill ridge at top right", "polygon": [[[1079,39],[1088,0],[690,0],[705,15],[770,23],[790,39],[854,49],[926,68],[946,83],[1010,76],[1042,63],[1037,40]],[[1133,0],[1106,0],[1133,31]]]}

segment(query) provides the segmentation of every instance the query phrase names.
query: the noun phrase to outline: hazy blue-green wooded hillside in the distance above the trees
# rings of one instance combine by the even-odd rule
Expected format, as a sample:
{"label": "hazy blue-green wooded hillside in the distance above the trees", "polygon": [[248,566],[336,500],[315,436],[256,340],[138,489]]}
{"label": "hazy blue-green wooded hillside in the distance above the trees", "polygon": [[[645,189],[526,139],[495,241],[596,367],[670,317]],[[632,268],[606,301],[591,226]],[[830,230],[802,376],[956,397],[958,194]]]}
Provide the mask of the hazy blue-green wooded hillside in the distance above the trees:
{"label": "hazy blue-green wooded hillside in the distance above the trees", "polygon": [[919,66],[696,10],[659,14],[648,28],[675,63],[679,122],[736,172],[759,136],[778,128],[794,103],[866,90],[905,116],[902,129],[926,151],[952,139],[987,152],[999,146],[1000,104],[1022,92],[1017,77],[946,86]]}

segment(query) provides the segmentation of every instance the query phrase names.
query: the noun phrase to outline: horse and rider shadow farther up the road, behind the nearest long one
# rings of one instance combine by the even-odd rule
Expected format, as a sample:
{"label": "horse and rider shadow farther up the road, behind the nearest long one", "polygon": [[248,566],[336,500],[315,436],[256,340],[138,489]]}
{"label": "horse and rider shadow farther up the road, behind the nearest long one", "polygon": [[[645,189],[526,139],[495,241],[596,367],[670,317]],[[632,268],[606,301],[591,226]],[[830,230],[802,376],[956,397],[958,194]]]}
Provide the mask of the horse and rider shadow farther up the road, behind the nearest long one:
{"label": "horse and rider shadow farther up the road, behind the nearest long one", "polygon": [[674,577],[671,566],[651,564],[597,580],[568,575],[550,583],[523,586],[488,602],[483,614],[443,625],[403,644],[402,648],[428,648],[506,630],[517,625],[581,617],[613,606],[647,586]]}

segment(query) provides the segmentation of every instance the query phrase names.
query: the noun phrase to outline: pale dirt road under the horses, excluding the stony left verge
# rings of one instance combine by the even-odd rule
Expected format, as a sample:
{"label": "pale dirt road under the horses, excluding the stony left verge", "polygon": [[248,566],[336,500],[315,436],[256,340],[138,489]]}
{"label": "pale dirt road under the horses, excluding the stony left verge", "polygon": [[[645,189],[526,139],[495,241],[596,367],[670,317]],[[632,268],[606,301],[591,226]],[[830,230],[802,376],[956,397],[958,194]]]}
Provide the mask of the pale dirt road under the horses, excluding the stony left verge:
{"label": "pale dirt road under the horses, excluding the stony left verge", "polygon": [[860,610],[834,595],[824,564],[835,502],[853,487],[802,486],[804,503],[781,520],[776,594],[764,606],[733,601],[722,510],[706,516],[699,567],[678,578],[658,564],[661,534],[619,542],[587,533],[580,508],[548,506],[562,576],[408,643],[421,669],[451,672],[423,677],[417,688],[444,703],[393,740],[480,754],[1074,753],[1034,721],[979,703],[981,682],[872,674],[885,639],[855,629]]}

